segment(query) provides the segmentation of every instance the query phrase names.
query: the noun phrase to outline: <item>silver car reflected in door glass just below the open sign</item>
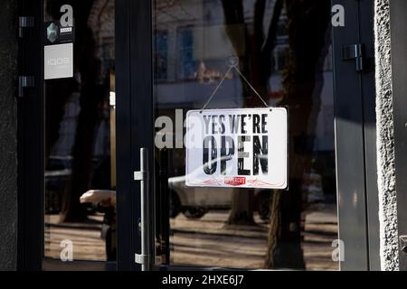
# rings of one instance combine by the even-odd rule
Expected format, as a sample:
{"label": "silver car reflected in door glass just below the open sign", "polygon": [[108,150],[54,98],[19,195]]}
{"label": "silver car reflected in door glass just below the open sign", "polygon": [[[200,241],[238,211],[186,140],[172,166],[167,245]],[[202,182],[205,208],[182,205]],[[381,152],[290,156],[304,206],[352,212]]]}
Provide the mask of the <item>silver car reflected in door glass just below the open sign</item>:
{"label": "silver car reflected in door glass just below the open sign", "polygon": [[[199,219],[204,217],[208,210],[230,210],[232,208],[233,193],[237,188],[192,188],[185,186],[185,176],[168,179],[170,189],[170,217],[175,218],[180,212],[185,217]],[[248,192],[249,193],[249,192]],[[255,210],[260,219],[270,218],[271,190],[254,189]]]}

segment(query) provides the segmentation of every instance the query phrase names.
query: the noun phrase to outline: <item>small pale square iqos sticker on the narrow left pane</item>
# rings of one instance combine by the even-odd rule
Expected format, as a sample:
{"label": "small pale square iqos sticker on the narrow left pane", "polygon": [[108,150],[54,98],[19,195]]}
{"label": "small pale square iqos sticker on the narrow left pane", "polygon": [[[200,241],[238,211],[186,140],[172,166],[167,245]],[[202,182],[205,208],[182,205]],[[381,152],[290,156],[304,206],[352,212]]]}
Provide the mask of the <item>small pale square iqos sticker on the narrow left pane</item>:
{"label": "small pale square iqos sticker on the narrow left pane", "polygon": [[73,77],[73,43],[47,45],[44,52],[44,79]]}

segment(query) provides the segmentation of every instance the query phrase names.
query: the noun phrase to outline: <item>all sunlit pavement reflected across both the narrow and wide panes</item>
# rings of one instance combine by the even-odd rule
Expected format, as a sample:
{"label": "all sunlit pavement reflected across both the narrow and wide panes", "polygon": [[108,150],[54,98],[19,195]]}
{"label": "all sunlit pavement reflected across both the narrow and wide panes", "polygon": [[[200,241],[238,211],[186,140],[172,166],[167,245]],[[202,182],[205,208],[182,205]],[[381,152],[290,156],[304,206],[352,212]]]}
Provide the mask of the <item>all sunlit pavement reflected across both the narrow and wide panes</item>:
{"label": "all sunlit pavement reflected across both the narrow and wide panes", "polygon": [[[317,211],[315,211],[317,210]],[[171,220],[171,261],[177,265],[262,268],[268,225],[256,218],[257,226],[225,226],[228,211],[211,211],[202,219],[180,215]],[[76,260],[104,260],[104,242],[99,238],[101,216],[86,224],[58,224],[48,216],[45,256],[59,258],[62,239],[71,239]],[[325,205],[306,213],[303,250],[308,270],[337,270],[331,259],[336,239],[336,206]]]}

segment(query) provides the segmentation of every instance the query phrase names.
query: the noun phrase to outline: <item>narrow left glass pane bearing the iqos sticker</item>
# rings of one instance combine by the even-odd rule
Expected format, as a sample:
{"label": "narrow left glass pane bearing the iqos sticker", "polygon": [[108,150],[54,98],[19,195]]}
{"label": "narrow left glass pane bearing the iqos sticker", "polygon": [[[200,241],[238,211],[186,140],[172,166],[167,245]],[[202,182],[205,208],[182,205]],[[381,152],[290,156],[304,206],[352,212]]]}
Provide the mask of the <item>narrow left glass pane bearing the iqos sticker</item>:
{"label": "narrow left glass pane bearing the iqos sticker", "polygon": [[73,75],[44,81],[45,257],[71,246],[73,260],[116,260],[114,3],[43,2],[45,48],[73,45]]}

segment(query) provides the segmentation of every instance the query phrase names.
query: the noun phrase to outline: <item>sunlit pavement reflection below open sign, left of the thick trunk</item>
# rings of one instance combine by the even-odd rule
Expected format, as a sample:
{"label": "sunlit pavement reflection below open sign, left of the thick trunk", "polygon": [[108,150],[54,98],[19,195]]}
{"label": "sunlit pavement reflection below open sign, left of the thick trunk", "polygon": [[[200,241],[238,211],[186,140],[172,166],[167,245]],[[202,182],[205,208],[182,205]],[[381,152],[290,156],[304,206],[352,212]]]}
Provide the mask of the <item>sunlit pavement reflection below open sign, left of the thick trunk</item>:
{"label": "sunlit pavement reflection below open sign, left of the thick trunk", "polygon": [[228,211],[210,211],[202,219],[179,215],[171,221],[172,262],[196,266],[260,268],[267,227],[225,227]]}

